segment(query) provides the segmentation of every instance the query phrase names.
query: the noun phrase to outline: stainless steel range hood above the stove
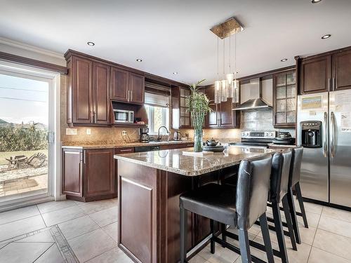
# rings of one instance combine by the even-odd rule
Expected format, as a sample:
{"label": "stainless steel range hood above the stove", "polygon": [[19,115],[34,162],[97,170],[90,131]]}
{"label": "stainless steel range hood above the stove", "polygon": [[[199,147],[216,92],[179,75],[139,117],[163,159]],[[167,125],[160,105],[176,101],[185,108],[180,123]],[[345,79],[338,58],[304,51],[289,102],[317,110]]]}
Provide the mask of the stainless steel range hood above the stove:
{"label": "stainless steel range hood above the stove", "polygon": [[[250,79],[240,85],[239,106],[233,111],[258,111],[272,108],[272,79]],[[264,97],[264,98],[263,98]]]}

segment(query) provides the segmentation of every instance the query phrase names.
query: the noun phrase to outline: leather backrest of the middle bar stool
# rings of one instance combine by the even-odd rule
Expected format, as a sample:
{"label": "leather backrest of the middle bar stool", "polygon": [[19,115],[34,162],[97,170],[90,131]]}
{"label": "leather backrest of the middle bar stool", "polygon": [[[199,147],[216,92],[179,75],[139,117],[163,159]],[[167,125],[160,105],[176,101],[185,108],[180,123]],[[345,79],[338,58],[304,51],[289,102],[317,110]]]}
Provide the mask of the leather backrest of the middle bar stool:
{"label": "leather backrest of the middle bar stool", "polygon": [[278,203],[288,192],[291,163],[291,149],[277,152],[272,159],[272,175],[270,178],[270,200]]}

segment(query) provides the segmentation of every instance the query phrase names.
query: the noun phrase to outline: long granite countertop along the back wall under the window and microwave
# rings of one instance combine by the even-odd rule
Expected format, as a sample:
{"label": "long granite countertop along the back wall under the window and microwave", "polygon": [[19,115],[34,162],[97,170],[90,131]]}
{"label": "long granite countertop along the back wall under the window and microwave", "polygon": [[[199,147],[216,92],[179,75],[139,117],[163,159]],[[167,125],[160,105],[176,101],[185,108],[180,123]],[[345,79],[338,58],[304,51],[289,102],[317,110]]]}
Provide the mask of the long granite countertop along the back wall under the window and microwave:
{"label": "long granite countertop along the back wall under the window and microwave", "polygon": [[161,142],[115,142],[115,143],[102,143],[102,144],[77,144],[77,145],[62,145],[62,148],[67,149],[99,149],[99,148],[126,148],[126,147],[139,147],[139,146],[158,146],[167,144],[187,144],[193,143],[193,140],[187,141],[161,141]]}

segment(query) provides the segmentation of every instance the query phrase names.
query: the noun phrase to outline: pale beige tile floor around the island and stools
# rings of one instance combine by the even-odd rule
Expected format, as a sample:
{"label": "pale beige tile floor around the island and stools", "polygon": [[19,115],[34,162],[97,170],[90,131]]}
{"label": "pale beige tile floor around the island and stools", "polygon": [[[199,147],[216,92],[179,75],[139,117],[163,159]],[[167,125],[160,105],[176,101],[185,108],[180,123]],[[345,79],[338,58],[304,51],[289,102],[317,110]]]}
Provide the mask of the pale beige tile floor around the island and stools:
{"label": "pale beige tile floor around the island and stools", "polygon": [[[298,251],[291,249],[286,238],[290,262],[351,263],[351,212],[313,203],[305,203],[305,208],[310,228],[305,229],[299,219],[303,243]],[[271,215],[270,209],[267,213]],[[49,231],[60,232],[62,240],[53,241]],[[253,226],[249,233],[249,238],[263,243],[259,227]],[[271,240],[273,248],[278,249],[274,232]],[[72,249],[77,262],[131,262],[117,248],[117,199],[50,202],[0,213],[0,262],[65,262],[62,243],[64,248]],[[251,248],[251,253],[266,260],[264,252]],[[216,254],[212,255],[207,246],[190,259],[190,263],[198,262],[240,263],[241,258],[216,245]]]}

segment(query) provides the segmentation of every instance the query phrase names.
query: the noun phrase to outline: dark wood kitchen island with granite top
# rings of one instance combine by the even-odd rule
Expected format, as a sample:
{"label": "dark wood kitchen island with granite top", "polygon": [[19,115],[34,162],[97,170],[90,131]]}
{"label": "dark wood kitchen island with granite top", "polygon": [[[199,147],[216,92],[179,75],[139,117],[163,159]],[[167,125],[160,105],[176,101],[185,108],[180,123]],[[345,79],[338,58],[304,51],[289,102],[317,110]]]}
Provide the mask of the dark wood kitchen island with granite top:
{"label": "dark wood kitchen island with granite top", "polygon": [[[119,166],[118,245],[134,262],[178,262],[180,194],[234,176],[243,159],[274,153],[237,146],[203,157],[183,151],[192,148],[114,155]],[[209,220],[189,213],[187,226],[190,250],[210,233]]]}

